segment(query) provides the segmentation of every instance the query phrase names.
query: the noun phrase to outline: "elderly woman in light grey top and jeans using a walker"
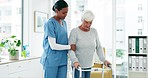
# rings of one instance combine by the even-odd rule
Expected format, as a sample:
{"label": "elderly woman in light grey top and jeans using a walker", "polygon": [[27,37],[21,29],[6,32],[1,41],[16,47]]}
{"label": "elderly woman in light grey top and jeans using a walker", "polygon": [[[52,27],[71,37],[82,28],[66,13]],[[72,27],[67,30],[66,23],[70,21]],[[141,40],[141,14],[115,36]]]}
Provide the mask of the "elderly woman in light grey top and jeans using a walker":
{"label": "elderly woman in light grey top and jeans using a walker", "polygon": [[[91,69],[95,51],[105,65],[110,64],[105,60],[97,30],[91,28],[93,19],[94,14],[91,11],[85,11],[82,15],[82,24],[72,29],[70,33],[69,44],[76,44],[76,51],[69,50],[68,54],[75,68],[80,66],[83,70]],[[79,78],[78,70],[75,70],[75,78]],[[82,78],[90,78],[90,71],[82,72]]]}

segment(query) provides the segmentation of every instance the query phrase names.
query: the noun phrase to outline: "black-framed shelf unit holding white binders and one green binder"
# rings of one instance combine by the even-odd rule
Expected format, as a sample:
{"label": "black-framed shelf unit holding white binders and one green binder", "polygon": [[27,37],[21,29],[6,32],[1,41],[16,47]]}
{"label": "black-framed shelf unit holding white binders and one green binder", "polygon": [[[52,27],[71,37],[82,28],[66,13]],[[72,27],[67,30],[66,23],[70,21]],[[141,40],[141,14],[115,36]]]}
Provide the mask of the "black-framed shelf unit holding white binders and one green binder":
{"label": "black-framed shelf unit holding white binders and one green binder", "polygon": [[148,72],[147,42],[147,36],[128,37],[129,78],[146,78],[146,72]]}

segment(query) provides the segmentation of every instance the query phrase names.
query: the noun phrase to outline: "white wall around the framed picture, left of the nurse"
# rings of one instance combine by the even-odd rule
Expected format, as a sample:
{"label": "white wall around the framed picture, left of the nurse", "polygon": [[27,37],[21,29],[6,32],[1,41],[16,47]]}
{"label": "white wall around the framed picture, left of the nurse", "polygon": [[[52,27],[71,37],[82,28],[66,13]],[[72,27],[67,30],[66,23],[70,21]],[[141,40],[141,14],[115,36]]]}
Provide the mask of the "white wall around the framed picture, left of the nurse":
{"label": "white wall around the framed picture, left of the nurse", "polygon": [[41,56],[44,33],[34,32],[34,11],[49,14],[49,0],[24,0],[24,44],[29,44],[31,56]]}

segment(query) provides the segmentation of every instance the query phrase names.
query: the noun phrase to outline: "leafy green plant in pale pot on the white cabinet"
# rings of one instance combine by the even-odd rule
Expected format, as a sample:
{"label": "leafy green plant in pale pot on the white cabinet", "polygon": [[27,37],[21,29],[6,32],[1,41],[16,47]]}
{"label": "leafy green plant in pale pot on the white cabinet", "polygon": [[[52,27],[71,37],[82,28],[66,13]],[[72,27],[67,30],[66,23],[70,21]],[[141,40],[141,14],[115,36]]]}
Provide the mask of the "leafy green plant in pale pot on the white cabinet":
{"label": "leafy green plant in pale pot on the white cabinet", "polygon": [[4,47],[9,52],[9,59],[19,59],[19,47],[21,46],[21,41],[16,38],[16,36],[10,36],[4,38],[0,42],[0,47]]}

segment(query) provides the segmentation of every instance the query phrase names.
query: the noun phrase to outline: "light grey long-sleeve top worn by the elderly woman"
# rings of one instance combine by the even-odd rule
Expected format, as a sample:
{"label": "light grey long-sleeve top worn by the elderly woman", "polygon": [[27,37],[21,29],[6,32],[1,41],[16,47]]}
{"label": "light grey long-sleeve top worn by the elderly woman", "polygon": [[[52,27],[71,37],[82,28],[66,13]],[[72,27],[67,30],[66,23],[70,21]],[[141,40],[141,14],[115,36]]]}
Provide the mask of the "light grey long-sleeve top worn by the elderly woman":
{"label": "light grey long-sleeve top worn by the elderly woman", "polygon": [[84,32],[78,27],[74,28],[70,33],[69,44],[76,44],[76,51],[69,50],[68,52],[72,63],[79,62],[82,68],[93,66],[95,52],[102,62],[105,61],[104,52],[94,28],[90,28],[88,32]]}

